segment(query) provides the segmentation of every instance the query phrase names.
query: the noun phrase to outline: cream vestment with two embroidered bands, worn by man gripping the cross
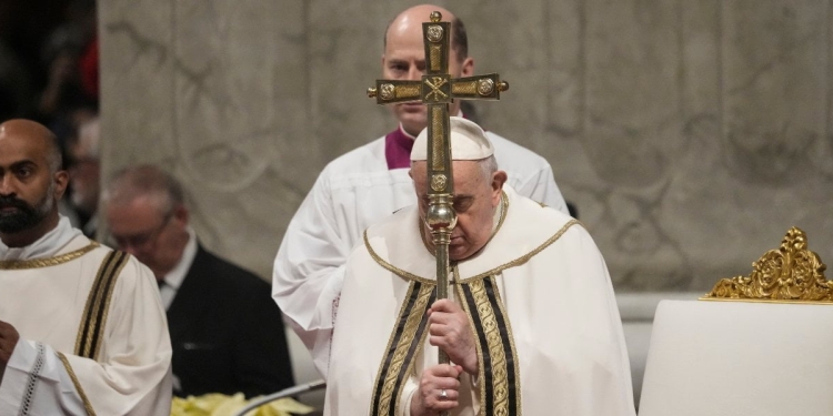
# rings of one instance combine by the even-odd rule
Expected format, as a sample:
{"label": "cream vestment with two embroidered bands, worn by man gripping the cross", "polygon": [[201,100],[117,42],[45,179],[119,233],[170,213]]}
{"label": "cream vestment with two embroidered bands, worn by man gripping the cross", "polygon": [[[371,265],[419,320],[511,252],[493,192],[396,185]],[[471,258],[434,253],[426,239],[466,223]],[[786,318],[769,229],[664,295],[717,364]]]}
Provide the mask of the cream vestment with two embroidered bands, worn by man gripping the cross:
{"label": "cream vestment with two embroidered bands, worn by man gripping the cross", "polygon": [[[634,415],[622,324],[601,253],[580,223],[504,186],[488,245],[452,263],[480,374],[451,415]],[[435,260],[416,206],[367,231],[347,264],[325,415],[409,415],[426,367]],[[473,386],[473,387],[472,387]]]}

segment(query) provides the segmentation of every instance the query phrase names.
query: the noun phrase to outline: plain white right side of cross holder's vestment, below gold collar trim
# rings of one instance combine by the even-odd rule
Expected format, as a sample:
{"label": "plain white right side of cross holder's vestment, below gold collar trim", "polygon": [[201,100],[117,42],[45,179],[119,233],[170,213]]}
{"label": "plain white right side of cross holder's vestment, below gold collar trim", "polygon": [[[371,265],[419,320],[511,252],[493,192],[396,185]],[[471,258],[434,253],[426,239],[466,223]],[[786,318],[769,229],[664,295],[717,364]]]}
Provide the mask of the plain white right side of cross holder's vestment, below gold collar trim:
{"label": "plain white right side of cross holder's vestment, below gold collar trim", "polygon": [[634,415],[610,275],[582,226],[571,226],[524,266],[504,271],[501,286],[518,347],[524,413]]}

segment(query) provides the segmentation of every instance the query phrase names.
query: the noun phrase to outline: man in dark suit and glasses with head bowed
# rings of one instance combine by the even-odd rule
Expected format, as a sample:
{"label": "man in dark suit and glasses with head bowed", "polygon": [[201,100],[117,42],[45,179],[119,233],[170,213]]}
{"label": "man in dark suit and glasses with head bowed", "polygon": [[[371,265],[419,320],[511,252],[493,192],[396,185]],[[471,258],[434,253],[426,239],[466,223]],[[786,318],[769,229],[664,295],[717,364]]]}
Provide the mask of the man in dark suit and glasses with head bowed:
{"label": "man in dark suit and glasses with head bowed", "polygon": [[181,185],[151,165],[119,172],[104,192],[116,245],[153,271],[173,346],[174,394],[247,397],[293,385],[282,315],[268,283],[205,251]]}

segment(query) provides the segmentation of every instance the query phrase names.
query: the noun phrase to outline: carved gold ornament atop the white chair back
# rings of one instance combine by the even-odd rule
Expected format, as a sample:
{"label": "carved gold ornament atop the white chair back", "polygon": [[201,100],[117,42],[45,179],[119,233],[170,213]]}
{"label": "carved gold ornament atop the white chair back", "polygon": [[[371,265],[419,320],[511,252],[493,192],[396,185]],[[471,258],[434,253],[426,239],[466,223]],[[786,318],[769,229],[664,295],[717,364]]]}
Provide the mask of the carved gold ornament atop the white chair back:
{"label": "carved gold ornament atop the white chair back", "polygon": [[827,266],[807,250],[807,236],[792,227],[777,250],[752,263],[752,274],[722,278],[701,300],[833,303],[833,282],[824,277]]}

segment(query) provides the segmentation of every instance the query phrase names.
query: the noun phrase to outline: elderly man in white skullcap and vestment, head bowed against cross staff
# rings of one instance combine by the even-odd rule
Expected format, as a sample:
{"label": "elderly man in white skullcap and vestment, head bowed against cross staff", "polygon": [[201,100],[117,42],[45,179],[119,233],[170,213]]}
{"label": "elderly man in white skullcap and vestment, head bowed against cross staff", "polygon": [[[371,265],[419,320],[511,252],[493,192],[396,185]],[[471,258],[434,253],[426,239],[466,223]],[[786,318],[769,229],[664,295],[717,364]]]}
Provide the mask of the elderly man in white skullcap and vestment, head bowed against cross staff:
{"label": "elderly man in white skullcap and vestment, head bowed against cross staff", "polygon": [[[622,324],[593,240],[506,185],[476,124],[452,118],[450,139],[450,297],[435,301],[423,131],[411,153],[419,203],[370,226],[348,260],[324,414],[634,415]],[[451,364],[438,364],[438,348]]]}

